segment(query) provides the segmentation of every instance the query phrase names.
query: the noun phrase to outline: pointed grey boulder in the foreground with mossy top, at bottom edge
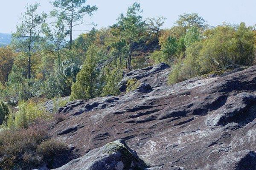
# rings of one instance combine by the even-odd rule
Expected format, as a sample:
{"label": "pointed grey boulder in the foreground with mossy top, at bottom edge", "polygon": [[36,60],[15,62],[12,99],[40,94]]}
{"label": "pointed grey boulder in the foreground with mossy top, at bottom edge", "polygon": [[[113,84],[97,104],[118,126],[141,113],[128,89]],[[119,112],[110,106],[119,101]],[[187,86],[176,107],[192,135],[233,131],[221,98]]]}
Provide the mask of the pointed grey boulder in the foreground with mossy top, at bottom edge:
{"label": "pointed grey boulder in the foreground with mossy top, at bottom edge", "polygon": [[55,170],[144,170],[147,167],[121,139],[91,150]]}

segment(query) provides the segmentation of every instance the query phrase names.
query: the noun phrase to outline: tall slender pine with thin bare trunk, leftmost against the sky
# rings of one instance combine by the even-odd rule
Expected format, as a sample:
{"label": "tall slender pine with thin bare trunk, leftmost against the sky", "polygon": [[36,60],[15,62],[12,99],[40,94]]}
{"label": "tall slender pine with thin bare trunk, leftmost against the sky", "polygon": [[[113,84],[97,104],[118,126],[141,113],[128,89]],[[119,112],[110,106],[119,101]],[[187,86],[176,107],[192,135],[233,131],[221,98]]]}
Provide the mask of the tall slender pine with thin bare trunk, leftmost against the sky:
{"label": "tall slender pine with thin bare trunk, leftmost against the sky", "polygon": [[31,79],[31,57],[32,52],[40,40],[41,25],[45,22],[46,14],[37,14],[39,3],[28,5],[26,12],[21,17],[21,24],[17,26],[17,31],[13,34],[12,45],[19,51],[26,52],[28,56],[28,75]]}

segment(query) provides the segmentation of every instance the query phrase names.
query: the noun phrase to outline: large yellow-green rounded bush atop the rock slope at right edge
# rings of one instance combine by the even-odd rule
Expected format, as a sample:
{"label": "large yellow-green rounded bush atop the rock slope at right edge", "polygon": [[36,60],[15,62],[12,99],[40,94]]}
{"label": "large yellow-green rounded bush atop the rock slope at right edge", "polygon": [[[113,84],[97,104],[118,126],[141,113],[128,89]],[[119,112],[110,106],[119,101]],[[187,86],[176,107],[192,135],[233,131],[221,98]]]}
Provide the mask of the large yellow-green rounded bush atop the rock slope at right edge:
{"label": "large yellow-green rounded bush atop the rock slope at right edge", "polygon": [[207,32],[207,38],[194,42],[186,58],[175,65],[169,83],[225,70],[234,65],[251,65],[255,59],[255,37],[244,23],[238,27],[222,25]]}

